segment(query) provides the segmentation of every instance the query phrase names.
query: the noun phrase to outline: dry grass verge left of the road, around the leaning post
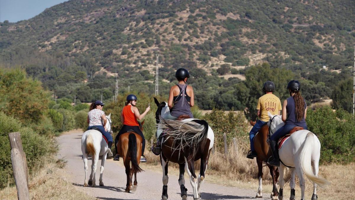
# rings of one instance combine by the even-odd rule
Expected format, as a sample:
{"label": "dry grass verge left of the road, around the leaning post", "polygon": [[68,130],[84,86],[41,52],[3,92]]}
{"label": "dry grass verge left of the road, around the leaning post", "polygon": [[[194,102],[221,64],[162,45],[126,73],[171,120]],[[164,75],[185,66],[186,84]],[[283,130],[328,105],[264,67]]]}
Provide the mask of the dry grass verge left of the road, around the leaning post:
{"label": "dry grass verge left of the road, around the leaning post", "polygon": [[[44,167],[35,173],[29,181],[29,194],[33,200],[47,199],[96,199],[87,196],[85,193],[78,191],[74,186],[62,179],[61,167],[65,163],[62,160],[58,162],[48,162]],[[16,186],[7,186],[0,191],[0,199],[12,200],[17,199]]]}

